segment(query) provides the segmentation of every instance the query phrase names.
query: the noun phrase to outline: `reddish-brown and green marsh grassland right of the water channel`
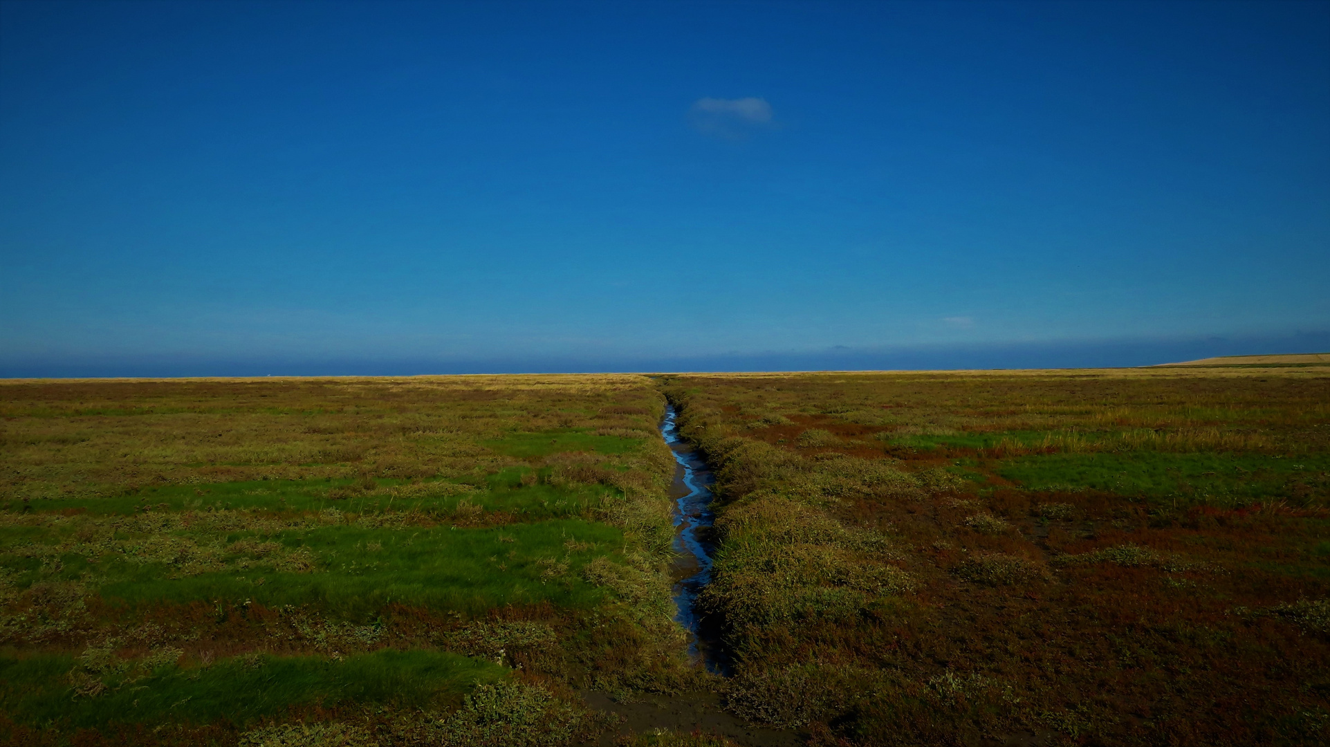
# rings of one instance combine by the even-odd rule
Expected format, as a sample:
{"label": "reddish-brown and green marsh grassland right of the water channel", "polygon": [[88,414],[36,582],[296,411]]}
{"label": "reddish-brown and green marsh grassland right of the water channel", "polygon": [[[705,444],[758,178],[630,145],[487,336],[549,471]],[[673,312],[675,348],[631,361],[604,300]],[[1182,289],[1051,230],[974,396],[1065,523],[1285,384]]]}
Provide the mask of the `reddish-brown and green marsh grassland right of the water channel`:
{"label": "reddish-brown and green marsh grassland right of the water channel", "polygon": [[728,699],[823,744],[1330,740],[1330,371],[674,376]]}

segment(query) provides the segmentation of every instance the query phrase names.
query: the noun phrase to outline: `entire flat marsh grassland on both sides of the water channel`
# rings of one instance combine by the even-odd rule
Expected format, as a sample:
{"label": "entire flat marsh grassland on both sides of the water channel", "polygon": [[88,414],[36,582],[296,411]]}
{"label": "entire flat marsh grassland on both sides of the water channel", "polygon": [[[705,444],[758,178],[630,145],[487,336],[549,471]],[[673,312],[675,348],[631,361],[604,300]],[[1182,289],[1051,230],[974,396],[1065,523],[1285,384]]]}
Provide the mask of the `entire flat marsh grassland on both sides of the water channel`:
{"label": "entire flat marsh grassland on both sides of the water channel", "polygon": [[577,744],[580,690],[706,689],[826,746],[1330,739],[1325,366],[16,380],[0,428],[0,742]]}

